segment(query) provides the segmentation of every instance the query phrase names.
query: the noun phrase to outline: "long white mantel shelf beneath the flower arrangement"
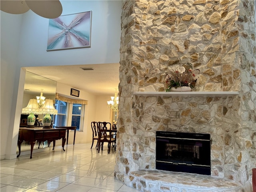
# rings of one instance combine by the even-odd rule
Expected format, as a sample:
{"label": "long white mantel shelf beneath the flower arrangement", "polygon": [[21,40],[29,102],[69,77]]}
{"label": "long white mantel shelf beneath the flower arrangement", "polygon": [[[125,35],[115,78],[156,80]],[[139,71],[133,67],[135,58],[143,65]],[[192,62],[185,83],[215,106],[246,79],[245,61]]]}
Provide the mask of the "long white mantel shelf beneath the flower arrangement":
{"label": "long white mantel shelf beneath the flower arrangement", "polygon": [[218,96],[218,97],[226,97],[226,96],[236,96],[239,95],[237,91],[190,91],[190,92],[142,92],[137,91],[133,92],[133,95],[137,96],[164,96],[164,97],[172,97],[172,96]]}

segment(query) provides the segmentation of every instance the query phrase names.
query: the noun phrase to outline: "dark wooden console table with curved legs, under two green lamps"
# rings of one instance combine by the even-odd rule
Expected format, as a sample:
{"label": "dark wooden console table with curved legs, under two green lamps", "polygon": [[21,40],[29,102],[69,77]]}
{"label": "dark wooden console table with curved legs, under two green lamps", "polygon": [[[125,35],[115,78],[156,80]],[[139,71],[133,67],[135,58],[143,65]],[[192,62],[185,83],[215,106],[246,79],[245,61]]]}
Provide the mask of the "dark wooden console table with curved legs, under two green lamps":
{"label": "dark wooden console table with curved legs, under two green lamps", "polygon": [[18,136],[18,148],[19,148],[19,154],[17,157],[20,156],[20,145],[23,141],[30,142],[30,159],[32,158],[32,152],[34,148],[34,144],[36,141],[38,142],[44,142],[48,141],[48,146],[50,145],[50,142],[53,141],[53,148],[55,147],[55,140],[59,140],[62,138],[62,149],[64,150],[65,142],[66,142],[66,128],[50,128],[50,129],[44,129],[44,128],[20,128],[19,130],[19,136]]}

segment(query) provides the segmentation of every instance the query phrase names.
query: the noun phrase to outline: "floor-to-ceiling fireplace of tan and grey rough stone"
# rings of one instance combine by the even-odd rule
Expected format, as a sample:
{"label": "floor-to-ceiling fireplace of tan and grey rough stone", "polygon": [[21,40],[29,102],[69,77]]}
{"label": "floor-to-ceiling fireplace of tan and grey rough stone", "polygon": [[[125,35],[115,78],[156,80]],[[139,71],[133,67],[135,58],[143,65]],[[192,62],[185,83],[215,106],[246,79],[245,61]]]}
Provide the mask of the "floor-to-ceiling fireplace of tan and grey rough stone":
{"label": "floor-to-ceiling fireplace of tan and grey rough stone", "polygon": [[[122,9],[116,178],[147,192],[197,186],[250,192],[256,167],[254,2],[127,0]],[[198,94],[164,92],[166,71],[182,64],[200,70],[192,90]],[[157,131],[210,134],[206,182],[198,174],[156,169]]]}

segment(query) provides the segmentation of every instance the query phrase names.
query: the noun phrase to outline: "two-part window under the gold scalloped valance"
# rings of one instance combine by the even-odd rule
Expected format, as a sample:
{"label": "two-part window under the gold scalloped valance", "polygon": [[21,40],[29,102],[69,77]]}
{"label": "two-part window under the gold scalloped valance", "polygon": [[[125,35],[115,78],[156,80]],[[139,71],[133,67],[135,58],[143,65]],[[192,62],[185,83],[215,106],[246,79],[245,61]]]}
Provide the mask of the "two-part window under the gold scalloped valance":
{"label": "two-part window under the gold scalloped valance", "polygon": [[55,116],[54,126],[76,126],[76,130],[83,130],[85,105],[55,100],[55,108],[58,114]]}

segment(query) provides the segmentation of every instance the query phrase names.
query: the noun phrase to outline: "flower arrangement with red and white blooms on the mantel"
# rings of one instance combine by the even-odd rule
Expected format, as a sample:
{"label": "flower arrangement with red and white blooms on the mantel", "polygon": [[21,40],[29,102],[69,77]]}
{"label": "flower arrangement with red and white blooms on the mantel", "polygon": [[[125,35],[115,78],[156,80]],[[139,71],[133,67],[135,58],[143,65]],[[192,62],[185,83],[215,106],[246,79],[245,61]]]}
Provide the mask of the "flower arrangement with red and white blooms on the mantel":
{"label": "flower arrangement with red and white blooms on the mantel", "polygon": [[199,69],[192,70],[189,66],[181,66],[171,70],[170,74],[165,77],[168,88],[166,92],[171,91],[171,88],[188,86],[194,88],[196,86],[196,76],[200,73]]}

